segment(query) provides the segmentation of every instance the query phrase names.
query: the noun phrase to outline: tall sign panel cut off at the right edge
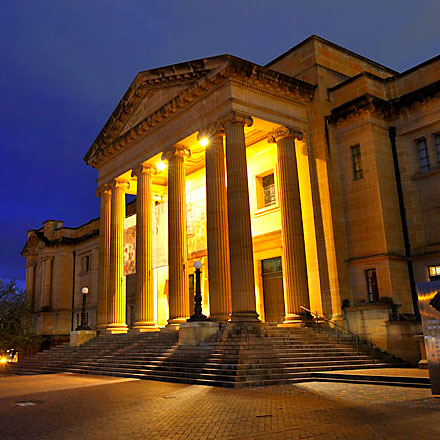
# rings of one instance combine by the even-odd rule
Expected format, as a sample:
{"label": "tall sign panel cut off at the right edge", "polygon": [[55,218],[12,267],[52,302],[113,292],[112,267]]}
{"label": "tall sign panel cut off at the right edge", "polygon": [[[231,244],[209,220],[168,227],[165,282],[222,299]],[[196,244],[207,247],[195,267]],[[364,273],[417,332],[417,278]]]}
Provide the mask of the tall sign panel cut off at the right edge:
{"label": "tall sign panel cut off at the right edge", "polygon": [[418,283],[420,315],[432,394],[440,394],[440,281]]}

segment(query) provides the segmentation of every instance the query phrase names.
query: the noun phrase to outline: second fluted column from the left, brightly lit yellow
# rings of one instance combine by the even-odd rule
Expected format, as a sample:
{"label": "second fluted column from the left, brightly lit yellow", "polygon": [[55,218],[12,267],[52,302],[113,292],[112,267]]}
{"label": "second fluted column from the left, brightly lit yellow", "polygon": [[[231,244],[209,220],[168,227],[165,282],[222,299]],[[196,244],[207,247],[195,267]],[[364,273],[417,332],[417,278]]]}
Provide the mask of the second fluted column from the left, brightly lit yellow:
{"label": "second fluted column from the left, brightly lit yellow", "polygon": [[126,333],[126,297],[124,276],[125,191],[129,184],[116,180],[112,188],[110,227],[110,285],[108,291],[108,333]]}

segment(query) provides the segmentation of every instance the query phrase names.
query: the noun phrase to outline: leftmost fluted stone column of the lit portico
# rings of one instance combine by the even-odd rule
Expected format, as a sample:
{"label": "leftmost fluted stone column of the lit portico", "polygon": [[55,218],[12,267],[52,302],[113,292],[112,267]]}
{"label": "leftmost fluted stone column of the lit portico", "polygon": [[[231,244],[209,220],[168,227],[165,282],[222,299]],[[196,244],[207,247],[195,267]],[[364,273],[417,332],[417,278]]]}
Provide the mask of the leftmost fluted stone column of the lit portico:
{"label": "leftmost fluted stone column of the lit portico", "polygon": [[97,328],[104,330],[108,324],[107,306],[110,280],[110,224],[111,224],[111,188],[104,185],[98,189],[101,197],[99,218],[99,262],[98,262],[98,316]]}

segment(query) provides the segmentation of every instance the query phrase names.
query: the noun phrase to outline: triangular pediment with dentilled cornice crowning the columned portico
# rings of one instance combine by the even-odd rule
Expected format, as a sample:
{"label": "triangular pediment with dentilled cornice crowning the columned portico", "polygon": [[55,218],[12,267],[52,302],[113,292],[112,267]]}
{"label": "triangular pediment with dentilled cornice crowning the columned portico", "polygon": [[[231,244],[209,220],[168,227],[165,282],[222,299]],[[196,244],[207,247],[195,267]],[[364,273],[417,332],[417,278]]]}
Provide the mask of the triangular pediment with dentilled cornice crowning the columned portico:
{"label": "triangular pediment with dentilled cornice crowning the columned portico", "polygon": [[114,151],[165,123],[225,81],[291,99],[310,100],[315,86],[232,55],[140,72],[84,157],[97,167]]}

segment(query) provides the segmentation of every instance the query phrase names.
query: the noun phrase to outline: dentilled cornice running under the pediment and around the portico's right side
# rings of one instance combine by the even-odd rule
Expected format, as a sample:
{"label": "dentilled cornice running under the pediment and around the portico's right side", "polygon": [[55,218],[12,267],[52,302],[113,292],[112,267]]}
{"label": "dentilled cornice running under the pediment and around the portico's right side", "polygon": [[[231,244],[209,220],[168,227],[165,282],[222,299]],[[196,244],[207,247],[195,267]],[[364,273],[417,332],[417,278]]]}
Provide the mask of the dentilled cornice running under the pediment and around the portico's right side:
{"label": "dentilled cornice running under the pediment and around the portico's right side", "polygon": [[[200,75],[195,80],[195,83],[189,84],[186,90],[183,90],[179,95],[162,105],[121,136],[113,138],[112,134],[115,133],[115,131],[106,131],[106,126],[112,124],[114,126],[118,125],[119,128],[123,126],[131,113],[128,112],[127,109],[130,108],[130,106],[131,108],[134,107],[134,104],[128,100],[124,106],[125,111],[119,113],[115,111],[116,113],[114,112],[114,115],[112,115],[111,121],[108,121],[106,126],[104,126],[101,134],[84,157],[86,163],[93,167],[98,166],[106,157],[138,140],[150,130],[164,123],[167,118],[183,111],[183,108],[192,102],[202,99],[211,93],[215,87],[218,87],[227,80],[275,95],[279,98],[301,102],[307,102],[313,98],[315,86],[311,84],[230,55],[219,57],[219,61],[222,59],[227,62],[223,62],[217,69],[213,69],[209,73],[203,71],[203,76]],[[193,79],[195,78],[193,77]],[[150,79],[148,84],[156,84],[157,81],[160,83],[161,81],[165,81],[165,79]],[[168,77],[166,81],[168,81]],[[130,96],[141,99],[144,95],[142,95],[141,92],[136,93],[136,91],[142,87],[142,84],[141,82],[137,89],[135,89],[135,92],[132,92]],[[133,88],[135,88],[135,86],[133,86]],[[127,94],[128,92],[126,95]],[[126,115],[124,116],[125,119],[123,115]],[[117,124],[117,121],[119,121],[119,124]]]}

